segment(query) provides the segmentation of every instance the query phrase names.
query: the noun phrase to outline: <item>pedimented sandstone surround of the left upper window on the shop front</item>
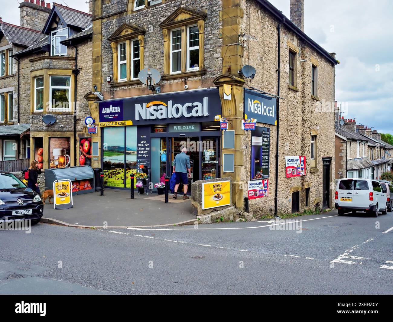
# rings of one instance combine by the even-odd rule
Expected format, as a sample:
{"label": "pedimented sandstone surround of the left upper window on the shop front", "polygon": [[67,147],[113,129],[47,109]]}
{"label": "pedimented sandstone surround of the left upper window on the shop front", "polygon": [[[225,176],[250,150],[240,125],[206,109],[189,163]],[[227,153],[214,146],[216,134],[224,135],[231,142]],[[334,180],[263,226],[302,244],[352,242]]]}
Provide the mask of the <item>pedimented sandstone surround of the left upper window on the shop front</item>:
{"label": "pedimented sandstone surround of the left upper window on the shop front", "polygon": [[[130,29],[130,32],[121,33],[124,29]],[[131,78],[131,45],[132,41],[138,39],[139,40],[139,50],[140,50],[140,70],[145,68],[144,66],[144,55],[145,55],[145,33],[144,29],[139,28],[138,26],[123,24],[121,25],[109,38],[110,45],[112,47],[112,69],[113,69],[113,82],[111,83],[112,87],[118,86],[127,86],[127,85],[138,85],[141,84],[139,79]],[[125,81],[119,81],[119,68],[118,68],[118,59],[119,59],[119,44],[122,42],[126,42],[127,46],[127,79]]]}

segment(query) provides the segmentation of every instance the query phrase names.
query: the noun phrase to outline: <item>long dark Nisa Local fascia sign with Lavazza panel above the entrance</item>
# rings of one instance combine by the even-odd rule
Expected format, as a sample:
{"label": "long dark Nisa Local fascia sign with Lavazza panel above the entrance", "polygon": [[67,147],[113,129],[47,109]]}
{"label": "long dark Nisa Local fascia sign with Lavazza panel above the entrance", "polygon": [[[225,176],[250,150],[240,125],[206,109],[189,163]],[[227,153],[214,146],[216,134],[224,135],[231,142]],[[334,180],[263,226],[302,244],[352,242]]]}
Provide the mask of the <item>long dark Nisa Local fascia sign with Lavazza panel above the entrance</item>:
{"label": "long dark Nisa Local fascia sign with Lavazza panel above the entrance", "polygon": [[217,88],[99,103],[100,126],[210,122],[219,114],[221,102]]}

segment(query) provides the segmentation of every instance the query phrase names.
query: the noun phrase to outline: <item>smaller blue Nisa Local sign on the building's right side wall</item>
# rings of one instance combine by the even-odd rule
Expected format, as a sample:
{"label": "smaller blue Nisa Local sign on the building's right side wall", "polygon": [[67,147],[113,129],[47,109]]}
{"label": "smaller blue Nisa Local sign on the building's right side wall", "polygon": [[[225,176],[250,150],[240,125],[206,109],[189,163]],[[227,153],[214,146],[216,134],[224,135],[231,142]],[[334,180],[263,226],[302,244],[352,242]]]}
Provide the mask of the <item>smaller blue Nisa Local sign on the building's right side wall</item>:
{"label": "smaller blue Nisa Local sign on the building's right side wall", "polygon": [[277,125],[277,99],[254,90],[244,89],[244,118]]}

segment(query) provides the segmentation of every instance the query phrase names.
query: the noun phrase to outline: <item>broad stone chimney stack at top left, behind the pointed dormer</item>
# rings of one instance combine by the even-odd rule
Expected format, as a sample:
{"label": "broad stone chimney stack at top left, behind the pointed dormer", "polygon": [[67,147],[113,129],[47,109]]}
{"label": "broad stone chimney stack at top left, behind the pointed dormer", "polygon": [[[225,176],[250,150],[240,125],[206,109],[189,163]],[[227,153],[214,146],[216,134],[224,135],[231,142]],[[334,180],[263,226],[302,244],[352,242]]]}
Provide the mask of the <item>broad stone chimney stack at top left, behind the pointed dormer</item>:
{"label": "broad stone chimney stack at top left, behind the pointed dormer", "polygon": [[24,0],[20,3],[20,26],[37,31],[44,29],[51,12],[50,3],[42,0]]}

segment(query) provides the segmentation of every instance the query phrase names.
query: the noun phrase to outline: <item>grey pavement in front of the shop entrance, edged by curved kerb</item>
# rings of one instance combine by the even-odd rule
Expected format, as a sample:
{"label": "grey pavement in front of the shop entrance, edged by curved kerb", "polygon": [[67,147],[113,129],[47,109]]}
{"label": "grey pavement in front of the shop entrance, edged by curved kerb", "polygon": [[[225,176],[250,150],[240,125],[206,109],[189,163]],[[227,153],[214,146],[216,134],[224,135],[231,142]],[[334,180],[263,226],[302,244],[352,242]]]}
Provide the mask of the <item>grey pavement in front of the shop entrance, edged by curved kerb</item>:
{"label": "grey pavement in front of the shop entrance, edged by curved kerb", "polygon": [[[169,195],[169,203],[165,204],[165,195],[149,193],[130,198],[129,190],[105,189],[100,192],[73,196],[73,208],[55,210],[53,204],[46,199],[42,221],[79,226],[129,227],[182,224],[196,218],[191,215],[191,197],[183,200],[173,199]],[[47,218],[47,219],[45,219]]]}

